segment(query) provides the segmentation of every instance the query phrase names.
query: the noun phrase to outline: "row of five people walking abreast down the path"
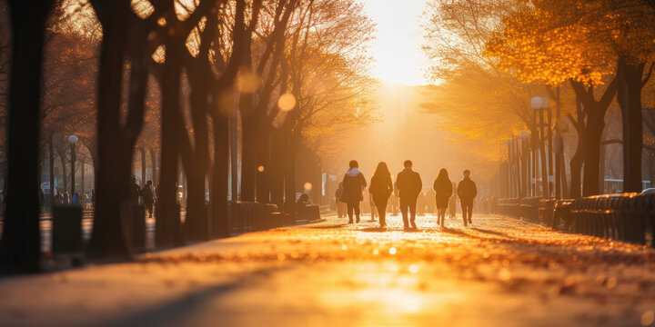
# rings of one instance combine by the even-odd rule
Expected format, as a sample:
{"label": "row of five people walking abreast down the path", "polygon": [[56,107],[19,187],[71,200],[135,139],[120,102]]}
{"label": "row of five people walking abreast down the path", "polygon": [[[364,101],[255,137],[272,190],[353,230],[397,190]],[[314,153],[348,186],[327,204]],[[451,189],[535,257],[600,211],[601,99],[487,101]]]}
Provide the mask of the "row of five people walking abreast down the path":
{"label": "row of five people walking abreast down the path", "polygon": [[[359,171],[358,166],[357,161],[350,161],[348,172],[344,175],[337,193],[338,201],[347,205],[348,223],[353,223],[353,218],[355,223],[359,223],[361,214],[359,203],[364,200],[363,191],[368,186],[366,178]],[[417,228],[417,201],[418,196],[422,194],[423,182],[420,175],[412,170],[410,160],[406,160],[404,166],[405,169],[396,177],[396,183],[392,182],[391,173],[387,163],[384,162],[378,163],[378,167],[371,177],[368,193],[373,202],[371,206],[375,205],[377,208],[380,227],[387,225],[388,199],[393,193],[396,193],[405,229]],[[459,203],[461,203],[464,226],[472,223],[473,200],[478,195],[478,189],[476,183],[470,179],[470,171],[464,171],[464,178],[456,186],[448,178],[448,171],[442,168],[433,184],[434,193],[430,194],[434,194],[434,200],[427,199],[427,201],[434,201],[437,208],[438,225],[441,227],[444,227],[448,204],[451,204],[452,207],[454,188],[457,190]]]}

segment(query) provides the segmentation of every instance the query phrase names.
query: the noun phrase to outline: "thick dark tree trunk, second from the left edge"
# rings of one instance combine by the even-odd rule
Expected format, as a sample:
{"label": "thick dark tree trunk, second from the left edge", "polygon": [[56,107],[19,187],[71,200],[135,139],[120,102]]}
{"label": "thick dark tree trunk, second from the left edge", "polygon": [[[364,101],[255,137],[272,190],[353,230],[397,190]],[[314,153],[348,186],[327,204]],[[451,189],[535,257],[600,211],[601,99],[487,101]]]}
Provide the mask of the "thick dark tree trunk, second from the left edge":
{"label": "thick dark tree trunk, second from the left edge", "polygon": [[[129,4],[92,3],[102,16],[97,95],[96,213],[87,253],[93,257],[129,258],[121,219],[130,181],[132,153],[121,134],[121,99]],[[98,6],[100,5],[100,6]]]}

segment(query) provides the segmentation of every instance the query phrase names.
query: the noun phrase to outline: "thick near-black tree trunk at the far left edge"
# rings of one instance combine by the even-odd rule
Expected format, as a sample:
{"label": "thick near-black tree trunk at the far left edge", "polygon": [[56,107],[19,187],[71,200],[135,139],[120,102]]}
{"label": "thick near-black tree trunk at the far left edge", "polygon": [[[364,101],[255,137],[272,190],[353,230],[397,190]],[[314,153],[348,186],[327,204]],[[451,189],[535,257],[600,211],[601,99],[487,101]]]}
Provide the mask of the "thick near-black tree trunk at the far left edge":
{"label": "thick near-black tree trunk at the far left edge", "polygon": [[0,272],[40,271],[39,120],[45,19],[52,1],[10,0],[12,67]]}

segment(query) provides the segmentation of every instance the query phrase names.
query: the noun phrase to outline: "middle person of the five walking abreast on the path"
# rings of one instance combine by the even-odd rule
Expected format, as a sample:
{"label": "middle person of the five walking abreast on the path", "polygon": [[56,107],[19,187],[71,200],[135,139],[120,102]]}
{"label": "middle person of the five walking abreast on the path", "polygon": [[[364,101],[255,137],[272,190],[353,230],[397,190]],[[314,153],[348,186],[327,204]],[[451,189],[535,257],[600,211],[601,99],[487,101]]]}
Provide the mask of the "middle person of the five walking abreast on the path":
{"label": "middle person of the five walking abreast on the path", "polygon": [[[420,179],[420,175],[411,169],[412,162],[410,160],[406,160],[404,164],[405,169],[398,173],[398,177],[396,177],[396,187],[398,189],[398,198],[400,199],[400,212],[403,215],[405,229],[409,228],[409,223],[411,223],[412,228],[416,229],[416,204],[418,193],[423,188],[423,182]],[[409,219],[408,212],[410,214]]]}

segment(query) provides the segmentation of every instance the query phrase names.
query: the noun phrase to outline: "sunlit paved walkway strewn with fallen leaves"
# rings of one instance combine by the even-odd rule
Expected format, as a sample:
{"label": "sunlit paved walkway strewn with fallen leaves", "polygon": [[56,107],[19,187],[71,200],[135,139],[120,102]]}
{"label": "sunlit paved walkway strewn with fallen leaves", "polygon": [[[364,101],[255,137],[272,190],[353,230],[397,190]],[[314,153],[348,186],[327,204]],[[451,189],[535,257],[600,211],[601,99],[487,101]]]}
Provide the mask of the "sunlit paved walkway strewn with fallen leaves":
{"label": "sunlit paved walkway strewn with fallen leaves", "polygon": [[655,251],[484,216],[324,223],[0,279],[2,326],[655,325]]}

